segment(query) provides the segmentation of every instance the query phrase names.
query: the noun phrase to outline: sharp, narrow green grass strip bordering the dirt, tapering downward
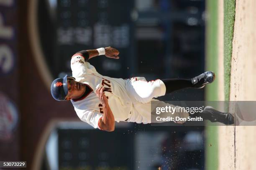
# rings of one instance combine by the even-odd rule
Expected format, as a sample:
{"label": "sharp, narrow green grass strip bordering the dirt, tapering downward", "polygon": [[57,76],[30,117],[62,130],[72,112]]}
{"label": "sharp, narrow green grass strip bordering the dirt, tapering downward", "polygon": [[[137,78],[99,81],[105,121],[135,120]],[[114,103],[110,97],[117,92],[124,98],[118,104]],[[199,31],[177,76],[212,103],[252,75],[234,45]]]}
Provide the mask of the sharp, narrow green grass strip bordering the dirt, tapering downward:
{"label": "sharp, narrow green grass strip bordering the dirt, tapering downward", "polygon": [[224,0],[224,93],[229,100],[232,42],[236,13],[236,0]]}

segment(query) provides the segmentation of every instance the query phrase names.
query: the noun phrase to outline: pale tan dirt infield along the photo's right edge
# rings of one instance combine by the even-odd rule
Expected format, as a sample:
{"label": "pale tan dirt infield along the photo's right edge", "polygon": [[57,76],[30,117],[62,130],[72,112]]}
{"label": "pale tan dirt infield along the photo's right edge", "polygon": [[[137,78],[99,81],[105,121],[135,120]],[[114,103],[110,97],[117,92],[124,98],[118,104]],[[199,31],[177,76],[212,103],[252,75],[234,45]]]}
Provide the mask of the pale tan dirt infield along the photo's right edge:
{"label": "pale tan dirt infield along the photo's right edge", "polygon": [[[236,0],[230,101],[256,100],[254,88],[256,83],[255,9],[255,0]],[[223,20],[219,23],[223,24]],[[221,33],[219,38],[223,40]],[[220,44],[219,47],[221,48]],[[256,169],[255,132],[256,126],[219,127],[219,170]]]}

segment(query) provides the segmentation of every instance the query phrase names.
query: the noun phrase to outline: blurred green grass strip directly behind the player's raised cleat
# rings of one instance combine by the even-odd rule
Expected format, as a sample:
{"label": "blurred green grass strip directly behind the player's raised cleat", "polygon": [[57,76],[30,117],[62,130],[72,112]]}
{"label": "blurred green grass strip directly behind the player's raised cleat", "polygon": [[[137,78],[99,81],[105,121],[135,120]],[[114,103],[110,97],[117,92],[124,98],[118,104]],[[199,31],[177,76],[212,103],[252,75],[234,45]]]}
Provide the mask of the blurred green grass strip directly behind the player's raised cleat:
{"label": "blurred green grass strip directly behind the player's raised cleat", "polygon": [[[218,0],[207,0],[208,20],[206,26],[206,70],[218,75]],[[218,79],[206,87],[206,100],[218,100]],[[205,169],[218,169],[218,127],[206,126]]]}

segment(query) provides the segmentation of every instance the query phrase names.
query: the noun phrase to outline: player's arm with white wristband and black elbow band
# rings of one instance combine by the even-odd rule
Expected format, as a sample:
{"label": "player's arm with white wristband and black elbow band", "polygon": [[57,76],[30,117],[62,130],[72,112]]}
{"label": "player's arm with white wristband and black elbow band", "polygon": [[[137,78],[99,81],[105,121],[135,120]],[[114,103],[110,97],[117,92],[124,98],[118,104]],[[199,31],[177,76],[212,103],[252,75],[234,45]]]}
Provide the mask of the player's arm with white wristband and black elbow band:
{"label": "player's arm with white wristband and black elbow band", "polygon": [[109,58],[119,59],[119,51],[113,47],[98,48],[95,50],[82,50],[77,52],[73,56],[75,55],[82,55],[86,61],[98,55],[105,55]]}

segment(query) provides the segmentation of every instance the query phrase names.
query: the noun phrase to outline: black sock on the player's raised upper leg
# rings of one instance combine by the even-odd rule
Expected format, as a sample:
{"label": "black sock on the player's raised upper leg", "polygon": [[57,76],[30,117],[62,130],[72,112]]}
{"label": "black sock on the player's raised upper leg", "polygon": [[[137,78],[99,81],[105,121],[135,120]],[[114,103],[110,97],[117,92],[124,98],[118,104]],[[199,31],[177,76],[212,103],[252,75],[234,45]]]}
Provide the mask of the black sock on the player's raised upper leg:
{"label": "black sock on the player's raised upper leg", "polygon": [[191,79],[163,79],[166,87],[166,93],[174,92],[176,90],[193,87]]}

